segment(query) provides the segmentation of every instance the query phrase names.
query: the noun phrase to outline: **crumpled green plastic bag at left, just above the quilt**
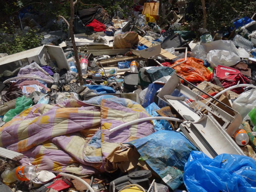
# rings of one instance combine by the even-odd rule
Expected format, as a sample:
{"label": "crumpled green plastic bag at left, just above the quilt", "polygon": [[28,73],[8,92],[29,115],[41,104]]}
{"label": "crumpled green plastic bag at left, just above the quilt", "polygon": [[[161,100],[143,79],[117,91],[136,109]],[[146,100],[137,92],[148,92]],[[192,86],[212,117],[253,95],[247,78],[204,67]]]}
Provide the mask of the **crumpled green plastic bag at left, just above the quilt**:
{"label": "crumpled green plastic bag at left, just above the quilt", "polygon": [[12,120],[14,116],[20,114],[22,111],[32,106],[32,103],[33,102],[31,98],[26,98],[24,95],[22,97],[18,97],[16,99],[15,109],[10,109],[7,111],[7,113],[4,115],[3,121],[6,123]]}

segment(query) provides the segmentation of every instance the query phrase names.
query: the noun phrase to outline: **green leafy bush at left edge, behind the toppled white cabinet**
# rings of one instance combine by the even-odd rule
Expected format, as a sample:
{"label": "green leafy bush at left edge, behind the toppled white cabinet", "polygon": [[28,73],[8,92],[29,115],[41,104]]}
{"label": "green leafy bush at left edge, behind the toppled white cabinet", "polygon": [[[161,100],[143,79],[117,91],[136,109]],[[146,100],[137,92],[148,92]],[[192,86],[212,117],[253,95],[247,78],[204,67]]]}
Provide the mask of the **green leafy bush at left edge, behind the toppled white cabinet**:
{"label": "green leafy bush at left edge, behind the toppled white cabinet", "polygon": [[15,24],[8,25],[5,22],[0,28],[0,53],[11,55],[38,47],[43,35],[38,36],[36,32],[32,29],[22,35],[22,31]]}

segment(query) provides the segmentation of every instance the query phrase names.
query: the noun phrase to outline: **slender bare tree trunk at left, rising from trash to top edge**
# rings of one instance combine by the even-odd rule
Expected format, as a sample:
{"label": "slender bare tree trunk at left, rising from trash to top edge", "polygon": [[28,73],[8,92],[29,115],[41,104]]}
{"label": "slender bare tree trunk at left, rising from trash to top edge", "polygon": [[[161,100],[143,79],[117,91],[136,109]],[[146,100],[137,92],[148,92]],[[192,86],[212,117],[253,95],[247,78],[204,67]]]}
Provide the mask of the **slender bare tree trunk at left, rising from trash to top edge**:
{"label": "slender bare tree trunk at left, rising from trash to top edge", "polygon": [[74,49],[74,53],[75,53],[75,64],[77,66],[77,72],[78,72],[78,78],[79,78],[79,82],[80,85],[83,85],[83,75],[82,75],[82,70],[81,70],[81,66],[79,63],[79,58],[78,58],[78,52],[77,52],[77,46],[75,46],[75,37],[74,37],[74,30],[73,30],[73,21],[74,21],[74,4],[77,2],[77,0],[74,2],[73,0],[70,0],[70,9],[71,9],[71,16],[69,19],[69,33],[70,33],[70,38],[71,38],[71,43],[72,43],[72,47]]}

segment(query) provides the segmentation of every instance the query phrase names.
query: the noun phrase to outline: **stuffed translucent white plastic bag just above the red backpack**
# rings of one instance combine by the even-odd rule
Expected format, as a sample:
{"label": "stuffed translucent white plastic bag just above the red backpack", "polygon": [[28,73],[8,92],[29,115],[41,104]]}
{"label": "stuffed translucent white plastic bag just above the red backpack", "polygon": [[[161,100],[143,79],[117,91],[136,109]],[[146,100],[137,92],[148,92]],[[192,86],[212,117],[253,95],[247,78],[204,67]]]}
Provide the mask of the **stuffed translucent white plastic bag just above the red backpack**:
{"label": "stuffed translucent white plastic bag just above the red backpack", "polygon": [[206,57],[211,67],[216,65],[224,65],[226,67],[237,64],[240,61],[240,57],[233,52],[226,50],[211,50]]}

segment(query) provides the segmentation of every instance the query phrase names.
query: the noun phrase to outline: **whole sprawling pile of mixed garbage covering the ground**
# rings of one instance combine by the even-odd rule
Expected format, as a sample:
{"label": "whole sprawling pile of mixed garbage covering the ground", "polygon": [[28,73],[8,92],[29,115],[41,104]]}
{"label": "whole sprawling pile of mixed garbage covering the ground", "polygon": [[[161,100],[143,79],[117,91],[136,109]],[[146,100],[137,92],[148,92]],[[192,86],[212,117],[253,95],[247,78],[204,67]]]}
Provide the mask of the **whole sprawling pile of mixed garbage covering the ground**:
{"label": "whole sprawling pile of mixed garbage covering the ground", "polygon": [[158,8],[79,10],[78,55],[63,31],[1,53],[0,191],[256,190],[256,21],[195,42]]}

